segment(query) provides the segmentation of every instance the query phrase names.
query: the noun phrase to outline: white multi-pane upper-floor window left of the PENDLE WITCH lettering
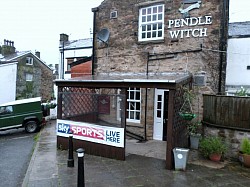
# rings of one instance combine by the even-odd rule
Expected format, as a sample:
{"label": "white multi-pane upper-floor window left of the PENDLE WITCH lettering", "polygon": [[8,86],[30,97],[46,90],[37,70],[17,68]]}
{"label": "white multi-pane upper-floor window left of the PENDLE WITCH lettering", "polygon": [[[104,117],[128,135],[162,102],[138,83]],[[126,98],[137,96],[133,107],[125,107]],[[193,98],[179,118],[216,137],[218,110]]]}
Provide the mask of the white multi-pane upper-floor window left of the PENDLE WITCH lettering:
{"label": "white multi-pane upper-floor window left of the PENDLE WITCH lettering", "polygon": [[164,5],[141,8],[139,12],[139,41],[164,38]]}

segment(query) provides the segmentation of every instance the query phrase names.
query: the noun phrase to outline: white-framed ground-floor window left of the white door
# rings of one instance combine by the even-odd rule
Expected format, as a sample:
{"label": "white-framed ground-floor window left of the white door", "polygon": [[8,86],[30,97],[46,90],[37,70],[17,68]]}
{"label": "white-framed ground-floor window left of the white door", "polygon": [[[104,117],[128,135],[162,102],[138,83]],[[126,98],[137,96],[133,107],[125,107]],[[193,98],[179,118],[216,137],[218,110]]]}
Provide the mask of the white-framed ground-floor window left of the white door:
{"label": "white-framed ground-floor window left of the white door", "polygon": [[[118,93],[120,90],[118,91]],[[129,88],[127,90],[128,98],[127,98],[127,106],[126,113],[127,115],[127,122],[132,123],[140,123],[141,122],[141,89],[140,88]],[[139,94],[139,95],[138,95]],[[136,98],[137,97],[137,98]],[[121,99],[117,97],[117,119],[121,120]],[[136,116],[139,115],[139,119]],[[133,115],[133,116],[132,116]]]}

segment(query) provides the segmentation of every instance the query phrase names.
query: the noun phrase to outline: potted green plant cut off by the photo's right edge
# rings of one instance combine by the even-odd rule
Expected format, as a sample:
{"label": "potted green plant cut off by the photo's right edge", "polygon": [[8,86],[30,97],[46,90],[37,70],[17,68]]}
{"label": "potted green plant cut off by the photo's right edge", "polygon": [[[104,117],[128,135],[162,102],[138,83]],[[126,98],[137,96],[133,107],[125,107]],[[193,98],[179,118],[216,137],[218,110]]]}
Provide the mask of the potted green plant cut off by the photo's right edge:
{"label": "potted green plant cut off by the photo's right edge", "polygon": [[250,167],[250,140],[243,138],[240,146],[241,161],[245,167]]}

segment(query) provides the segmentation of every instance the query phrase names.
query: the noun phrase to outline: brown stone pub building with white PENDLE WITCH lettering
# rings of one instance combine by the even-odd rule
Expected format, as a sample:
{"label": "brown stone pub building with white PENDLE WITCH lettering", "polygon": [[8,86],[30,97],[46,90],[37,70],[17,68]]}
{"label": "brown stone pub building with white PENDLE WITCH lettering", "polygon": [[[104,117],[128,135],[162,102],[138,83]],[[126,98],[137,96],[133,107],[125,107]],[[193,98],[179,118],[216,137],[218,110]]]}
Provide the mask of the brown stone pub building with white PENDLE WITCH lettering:
{"label": "brown stone pub building with white PENDLE WITCH lettering", "polygon": [[[92,9],[93,73],[190,72],[199,95],[194,110],[201,115],[202,94],[224,92],[227,6],[218,0],[104,0]],[[164,140],[167,118],[157,115],[167,92],[129,88],[127,129],[143,137],[147,118],[144,138]]]}

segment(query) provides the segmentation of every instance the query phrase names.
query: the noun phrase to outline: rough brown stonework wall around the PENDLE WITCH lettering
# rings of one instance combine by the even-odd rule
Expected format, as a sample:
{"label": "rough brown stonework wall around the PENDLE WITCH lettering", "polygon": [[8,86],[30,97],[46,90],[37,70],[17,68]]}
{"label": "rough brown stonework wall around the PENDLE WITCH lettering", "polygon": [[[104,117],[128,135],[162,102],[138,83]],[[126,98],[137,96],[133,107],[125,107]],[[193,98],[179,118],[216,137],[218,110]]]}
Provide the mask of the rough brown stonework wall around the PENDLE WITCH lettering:
{"label": "rough brown stonework wall around the PENDLE WITCH lettering", "polygon": [[[174,27],[170,20],[182,19],[179,12],[182,0],[104,0],[96,13],[96,33],[107,28],[110,38],[107,43],[95,41],[96,61],[94,73],[109,72],[186,72],[192,74],[205,72],[206,83],[198,87],[199,103],[195,101],[194,111],[202,118],[202,94],[217,93],[220,69],[220,33],[223,1],[203,0],[199,9],[190,11],[190,17],[205,19],[209,16],[207,25]],[[164,39],[157,41],[138,41],[139,9],[156,4],[165,5]],[[110,13],[117,11],[117,18],[111,19]],[[171,37],[171,32],[186,29],[206,29],[207,36]],[[151,60],[148,59],[151,54]],[[163,58],[162,58],[163,57]],[[222,85],[225,80],[222,79]],[[142,96],[143,100],[145,95]],[[151,89],[147,111],[147,135],[152,138],[154,90]],[[145,105],[142,101],[140,128],[144,128]],[[137,124],[138,126],[138,124]],[[141,132],[140,128],[133,128]],[[137,130],[136,130],[137,129]]]}

